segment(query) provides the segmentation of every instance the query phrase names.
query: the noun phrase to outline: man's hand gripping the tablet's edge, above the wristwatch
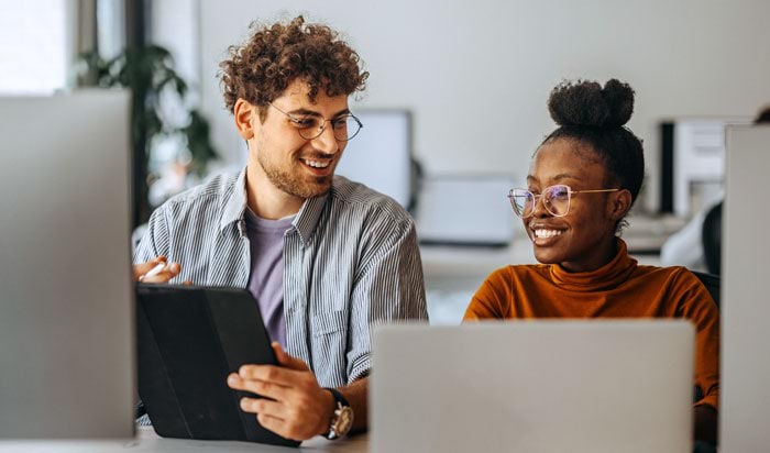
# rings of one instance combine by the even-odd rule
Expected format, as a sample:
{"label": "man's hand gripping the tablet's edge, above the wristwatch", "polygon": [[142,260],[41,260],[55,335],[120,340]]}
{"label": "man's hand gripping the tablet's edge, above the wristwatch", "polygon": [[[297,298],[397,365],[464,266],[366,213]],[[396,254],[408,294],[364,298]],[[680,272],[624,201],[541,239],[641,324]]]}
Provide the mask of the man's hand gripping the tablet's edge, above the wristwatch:
{"label": "man's hand gripping the tablet's edge, above the wristwatch", "polygon": [[265,398],[242,398],[241,409],[255,413],[264,428],[286,439],[304,441],[323,434],[334,412],[334,397],[318,385],[305,362],[273,343],[280,366],[243,365],[228,385]]}

